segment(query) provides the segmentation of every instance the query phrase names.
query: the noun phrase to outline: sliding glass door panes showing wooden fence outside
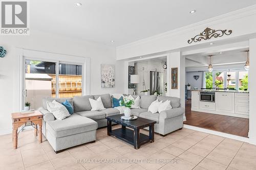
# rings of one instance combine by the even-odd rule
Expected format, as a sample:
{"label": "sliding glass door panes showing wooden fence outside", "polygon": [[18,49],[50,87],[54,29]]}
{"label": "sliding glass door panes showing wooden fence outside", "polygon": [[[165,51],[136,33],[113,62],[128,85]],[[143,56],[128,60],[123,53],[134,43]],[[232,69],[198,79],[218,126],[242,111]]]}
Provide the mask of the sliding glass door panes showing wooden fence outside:
{"label": "sliding glass door panes showing wooden fence outside", "polygon": [[[25,60],[24,106],[42,106],[42,99],[73,98],[82,95],[82,64]],[[24,109],[24,107],[23,107]]]}

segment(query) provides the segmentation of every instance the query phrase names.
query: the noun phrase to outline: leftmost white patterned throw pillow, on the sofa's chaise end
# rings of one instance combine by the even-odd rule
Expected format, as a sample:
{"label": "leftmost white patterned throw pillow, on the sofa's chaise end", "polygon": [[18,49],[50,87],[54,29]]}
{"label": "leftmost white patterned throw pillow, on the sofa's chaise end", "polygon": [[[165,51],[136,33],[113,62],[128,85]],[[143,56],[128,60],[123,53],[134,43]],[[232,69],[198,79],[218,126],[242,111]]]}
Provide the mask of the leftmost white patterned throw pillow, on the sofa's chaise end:
{"label": "leftmost white patterned throw pillow, on the sofa's chaise end", "polygon": [[60,103],[56,102],[55,100],[52,102],[47,102],[47,110],[51,112],[54,117],[58,120],[65,119],[66,117],[70,116],[69,111],[67,108]]}

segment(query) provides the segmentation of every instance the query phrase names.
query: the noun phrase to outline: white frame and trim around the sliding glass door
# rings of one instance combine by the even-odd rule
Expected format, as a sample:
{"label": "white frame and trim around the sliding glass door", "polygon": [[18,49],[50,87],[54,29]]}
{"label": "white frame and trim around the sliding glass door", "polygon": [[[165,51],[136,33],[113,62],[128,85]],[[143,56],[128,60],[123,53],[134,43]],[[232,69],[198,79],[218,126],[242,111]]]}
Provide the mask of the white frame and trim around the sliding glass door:
{"label": "white frame and trim around the sliding glass door", "polygon": [[[57,53],[48,53],[41,51],[25,50],[22,48],[17,49],[18,57],[18,77],[19,81],[17,82],[17,99],[18,99],[18,109],[19,111],[24,110],[25,103],[25,61],[26,60],[37,60],[37,61],[46,61],[56,63],[55,72],[56,72],[56,82],[58,82],[59,77],[59,63],[65,64],[76,64],[82,65],[82,95],[90,95],[90,58],[89,57],[80,57],[80,56],[71,56]],[[45,57],[48,56],[48,57]],[[53,59],[54,58],[54,59]],[[77,62],[73,62],[77,61]],[[56,83],[56,96],[58,96],[59,87]]]}

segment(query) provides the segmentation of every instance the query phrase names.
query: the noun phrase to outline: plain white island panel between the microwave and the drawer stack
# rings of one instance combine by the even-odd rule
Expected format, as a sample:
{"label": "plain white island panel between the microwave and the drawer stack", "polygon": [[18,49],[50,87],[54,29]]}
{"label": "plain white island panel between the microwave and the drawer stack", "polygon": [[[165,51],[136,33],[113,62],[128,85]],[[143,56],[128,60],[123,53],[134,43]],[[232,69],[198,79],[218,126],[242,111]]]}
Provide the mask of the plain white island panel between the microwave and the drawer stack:
{"label": "plain white island panel between the microwave and the drawer stack", "polygon": [[234,113],[234,93],[216,92],[215,103],[216,111]]}

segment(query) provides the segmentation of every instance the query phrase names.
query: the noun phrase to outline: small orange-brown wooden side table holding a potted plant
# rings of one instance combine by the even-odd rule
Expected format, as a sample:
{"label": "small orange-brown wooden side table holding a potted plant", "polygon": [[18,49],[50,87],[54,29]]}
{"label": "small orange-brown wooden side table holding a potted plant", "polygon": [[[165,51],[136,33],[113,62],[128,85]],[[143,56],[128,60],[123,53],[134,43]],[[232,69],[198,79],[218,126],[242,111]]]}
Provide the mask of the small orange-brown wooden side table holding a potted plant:
{"label": "small orange-brown wooden side table holding a potted plant", "polygon": [[[37,136],[38,130],[38,141],[42,142],[42,114],[39,111],[35,111],[32,113],[12,113],[12,140],[13,140],[13,148],[17,149],[17,131],[18,128],[27,122],[31,122],[35,125],[34,135]],[[38,128],[37,128],[38,125]]]}

